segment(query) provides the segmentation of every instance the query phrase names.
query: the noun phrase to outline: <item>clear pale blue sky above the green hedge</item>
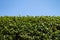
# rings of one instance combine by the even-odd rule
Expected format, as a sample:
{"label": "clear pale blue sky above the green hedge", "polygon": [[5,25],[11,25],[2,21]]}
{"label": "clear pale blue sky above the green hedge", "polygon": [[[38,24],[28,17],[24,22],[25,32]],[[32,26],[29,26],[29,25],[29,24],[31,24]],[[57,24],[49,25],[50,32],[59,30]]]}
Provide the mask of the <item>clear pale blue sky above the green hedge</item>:
{"label": "clear pale blue sky above the green hedge", "polygon": [[0,0],[0,16],[60,16],[60,0]]}

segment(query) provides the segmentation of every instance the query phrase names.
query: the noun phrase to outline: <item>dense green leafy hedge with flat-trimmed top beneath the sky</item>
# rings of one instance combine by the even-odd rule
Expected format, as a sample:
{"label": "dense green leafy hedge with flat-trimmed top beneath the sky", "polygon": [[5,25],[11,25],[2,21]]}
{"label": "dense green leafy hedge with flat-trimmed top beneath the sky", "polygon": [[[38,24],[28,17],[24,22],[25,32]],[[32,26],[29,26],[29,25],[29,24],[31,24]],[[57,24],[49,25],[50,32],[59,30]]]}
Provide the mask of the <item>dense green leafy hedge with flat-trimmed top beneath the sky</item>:
{"label": "dense green leafy hedge with flat-trimmed top beneath the sky", "polygon": [[60,16],[0,16],[0,40],[60,40]]}

